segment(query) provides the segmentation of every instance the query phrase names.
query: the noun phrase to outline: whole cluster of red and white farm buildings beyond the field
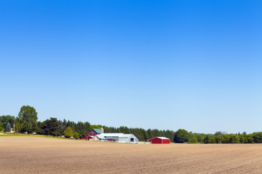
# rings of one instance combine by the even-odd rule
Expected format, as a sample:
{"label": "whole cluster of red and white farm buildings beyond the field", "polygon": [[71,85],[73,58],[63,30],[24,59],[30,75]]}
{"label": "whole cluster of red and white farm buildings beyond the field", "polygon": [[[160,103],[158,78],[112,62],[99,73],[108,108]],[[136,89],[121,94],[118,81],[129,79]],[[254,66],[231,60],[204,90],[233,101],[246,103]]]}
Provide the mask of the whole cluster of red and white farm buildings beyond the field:
{"label": "whole cluster of red and white farm buildings beyond the field", "polygon": [[[103,128],[92,129],[88,135],[85,136],[86,140],[94,141],[109,141],[109,142],[123,142],[123,143],[139,143],[139,139],[133,134],[125,133],[104,133]],[[148,140],[151,144],[170,144],[170,139],[165,137],[155,137]]]}

